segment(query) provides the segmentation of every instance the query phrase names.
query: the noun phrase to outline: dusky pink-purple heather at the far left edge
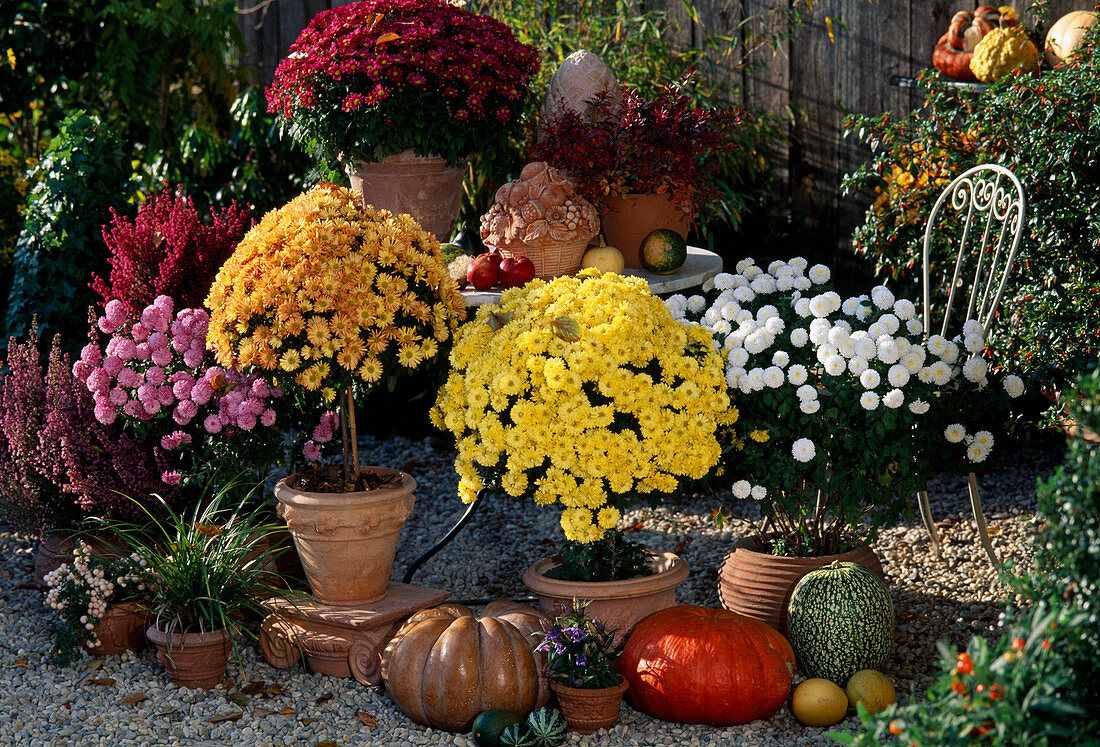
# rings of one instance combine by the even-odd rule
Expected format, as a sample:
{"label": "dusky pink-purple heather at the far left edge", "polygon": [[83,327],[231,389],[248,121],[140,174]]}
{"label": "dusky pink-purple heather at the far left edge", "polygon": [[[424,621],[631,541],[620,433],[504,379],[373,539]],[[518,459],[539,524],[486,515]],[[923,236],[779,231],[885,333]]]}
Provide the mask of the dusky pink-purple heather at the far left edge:
{"label": "dusky pink-purple heather at the far left edge", "polygon": [[96,420],[59,339],[43,370],[37,345],[12,338],[0,383],[0,515],[32,532],[86,515],[133,518],[140,509],[128,495],[170,496],[152,450]]}

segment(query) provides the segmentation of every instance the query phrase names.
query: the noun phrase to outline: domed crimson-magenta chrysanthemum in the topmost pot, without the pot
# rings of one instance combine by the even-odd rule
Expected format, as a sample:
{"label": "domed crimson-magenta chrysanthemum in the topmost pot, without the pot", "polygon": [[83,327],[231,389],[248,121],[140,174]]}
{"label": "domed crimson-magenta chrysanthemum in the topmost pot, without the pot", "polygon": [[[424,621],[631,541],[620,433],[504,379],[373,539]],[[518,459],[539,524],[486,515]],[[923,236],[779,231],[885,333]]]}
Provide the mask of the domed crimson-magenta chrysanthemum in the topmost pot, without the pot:
{"label": "domed crimson-magenta chrysanthemum in the topmost pot, without the pot", "polygon": [[488,15],[442,0],[364,0],[314,17],[267,102],[329,160],[413,149],[457,165],[517,123],[538,69],[538,52]]}

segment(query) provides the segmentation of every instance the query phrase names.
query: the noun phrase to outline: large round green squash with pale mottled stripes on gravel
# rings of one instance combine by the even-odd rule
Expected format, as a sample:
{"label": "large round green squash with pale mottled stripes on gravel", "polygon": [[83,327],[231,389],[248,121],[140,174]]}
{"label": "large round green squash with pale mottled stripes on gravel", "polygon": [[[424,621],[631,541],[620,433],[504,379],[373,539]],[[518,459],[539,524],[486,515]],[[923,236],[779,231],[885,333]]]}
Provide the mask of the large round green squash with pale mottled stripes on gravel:
{"label": "large round green squash with pale mottled stripes on gravel", "polygon": [[893,649],[893,604],[878,576],[833,561],[791,592],[787,630],[799,669],[842,688],[861,669],[882,671]]}

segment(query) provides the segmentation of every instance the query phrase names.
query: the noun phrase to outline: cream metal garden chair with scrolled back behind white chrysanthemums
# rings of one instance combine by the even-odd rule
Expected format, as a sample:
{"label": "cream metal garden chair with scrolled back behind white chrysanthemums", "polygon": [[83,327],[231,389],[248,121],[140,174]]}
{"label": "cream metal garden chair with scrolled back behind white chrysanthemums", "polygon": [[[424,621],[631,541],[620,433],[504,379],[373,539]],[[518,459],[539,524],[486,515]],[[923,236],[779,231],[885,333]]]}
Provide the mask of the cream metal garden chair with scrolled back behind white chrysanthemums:
{"label": "cream metal garden chair with scrolled back behind white chrysanthemums", "polygon": [[[944,310],[939,333],[947,337],[952,314],[961,309],[963,296],[969,292],[966,315],[957,319],[961,326],[970,319],[981,323],[982,337],[989,334],[993,325],[997,308],[1001,303],[1009,273],[1016,259],[1016,249],[1024,227],[1024,191],[1020,179],[1003,166],[982,164],[959,174],[947,185],[936,200],[928,216],[924,231],[924,272],[922,287],[924,292],[924,337],[932,334],[932,287],[930,262],[931,248],[935,238],[942,237],[938,228],[945,218],[952,218],[950,227],[961,223],[961,235],[957,246],[948,239],[953,249],[957,249],[954,273],[947,295],[947,306]],[[949,211],[954,211],[952,216]],[[957,230],[957,228],[955,228]],[[979,238],[980,234],[980,238]],[[948,267],[950,270],[950,267]],[[946,279],[946,276],[944,276]],[[969,289],[969,290],[968,290]],[[958,296],[958,303],[956,301]],[[986,514],[981,509],[981,497],[978,494],[978,479],[974,472],[967,475],[970,491],[970,507],[974,509],[974,520],[978,526],[978,538],[994,567],[1000,560],[993,551],[989,539],[989,527]],[[916,494],[921,509],[921,518],[928,528],[932,548],[937,556],[941,553],[939,532],[932,518],[928,506],[928,492]]]}

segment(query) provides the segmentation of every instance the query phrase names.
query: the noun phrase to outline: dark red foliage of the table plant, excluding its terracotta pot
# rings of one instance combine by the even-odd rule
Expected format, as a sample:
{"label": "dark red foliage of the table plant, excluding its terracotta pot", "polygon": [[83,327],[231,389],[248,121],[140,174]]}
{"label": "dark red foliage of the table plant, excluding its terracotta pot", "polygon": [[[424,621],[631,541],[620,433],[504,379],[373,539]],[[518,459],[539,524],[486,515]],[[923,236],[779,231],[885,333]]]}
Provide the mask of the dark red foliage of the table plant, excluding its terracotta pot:
{"label": "dark red foliage of the table plant, excluding its terracotta pot", "polygon": [[738,108],[700,108],[682,87],[664,86],[652,99],[624,87],[622,105],[604,95],[588,116],[565,110],[542,123],[530,160],[564,169],[590,201],[671,193],[697,209],[717,196],[716,156],[737,147],[734,135],[747,116]]}

